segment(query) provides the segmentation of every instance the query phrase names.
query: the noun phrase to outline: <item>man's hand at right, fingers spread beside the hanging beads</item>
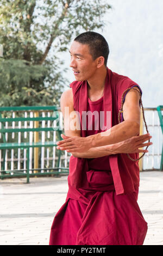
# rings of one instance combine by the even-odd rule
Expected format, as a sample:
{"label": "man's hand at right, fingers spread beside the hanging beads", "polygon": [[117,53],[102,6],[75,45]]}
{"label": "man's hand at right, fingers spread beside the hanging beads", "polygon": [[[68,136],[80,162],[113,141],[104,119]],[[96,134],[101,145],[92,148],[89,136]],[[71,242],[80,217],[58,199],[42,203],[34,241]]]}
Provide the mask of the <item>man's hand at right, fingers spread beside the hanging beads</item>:
{"label": "man's hand at right, fingers spread beside the hanging beads", "polygon": [[145,135],[133,136],[129,139],[126,139],[126,141],[115,143],[113,144],[114,153],[115,154],[148,153],[147,149],[141,149],[141,148],[152,145],[153,143],[150,142],[151,138],[152,136],[149,135],[149,133],[146,133]]}

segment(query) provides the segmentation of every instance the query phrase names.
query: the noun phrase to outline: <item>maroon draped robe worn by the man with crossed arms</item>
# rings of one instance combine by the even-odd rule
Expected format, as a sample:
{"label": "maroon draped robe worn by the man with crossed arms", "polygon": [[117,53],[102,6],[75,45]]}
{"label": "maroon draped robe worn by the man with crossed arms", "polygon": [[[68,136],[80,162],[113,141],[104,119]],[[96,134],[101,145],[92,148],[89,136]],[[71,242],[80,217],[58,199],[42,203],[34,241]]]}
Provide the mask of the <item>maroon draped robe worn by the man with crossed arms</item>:
{"label": "maroon draped robe worn by the man with crossed arms", "polygon": [[[142,94],[141,88],[130,78],[107,68],[100,108],[104,110],[105,125],[107,111],[111,113],[110,127],[118,124],[122,94],[135,86]],[[74,81],[70,87],[74,110],[80,115],[80,134],[86,137],[88,133],[82,129],[82,112],[87,111],[88,106],[87,81]],[[138,153],[130,156],[139,158]],[[71,156],[67,180],[66,202],[54,217],[49,245],[143,244],[147,222],[137,204],[140,181],[137,161],[131,161],[126,154],[91,160]]]}

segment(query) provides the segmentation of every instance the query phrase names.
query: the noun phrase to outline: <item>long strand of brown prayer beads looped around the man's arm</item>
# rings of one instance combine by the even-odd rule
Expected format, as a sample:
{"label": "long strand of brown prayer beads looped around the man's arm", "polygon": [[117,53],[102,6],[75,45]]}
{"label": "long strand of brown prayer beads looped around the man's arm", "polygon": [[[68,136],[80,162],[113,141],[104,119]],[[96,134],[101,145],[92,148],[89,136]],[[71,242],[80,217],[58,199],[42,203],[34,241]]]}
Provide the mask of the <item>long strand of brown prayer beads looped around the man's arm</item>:
{"label": "long strand of brown prayer beads looped around the man's arm", "polygon": [[[141,93],[140,93],[140,91],[137,90],[136,88],[128,88],[128,89],[126,89],[126,90],[123,92],[123,94],[122,94],[122,99],[121,99],[121,107],[120,107],[120,110],[119,110],[119,112],[118,112],[118,123],[119,123],[119,124],[121,123],[120,114],[123,113],[123,111],[122,111],[122,108],[123,108],[123,97],[124,97],[124,94],[125,94],[128,90],[135,90],[137,93],[139,93],[139,96],[140,96],[140,105],[141,105],[141,107],[142,107],[143,121],[145,122],[146,131],[147,131],[147,133],[149,133],[149,132],[148,132],[147,123],[146,123],[146,120],[145,120],[145,113],[144,113],[144,109],[143,109],[143,105],[142,105]],[[149,140],[148,142],[150,142],[150,140]],[[147,149],[148,147],[149,147],[149,146],[147,146],[146,149]],[[145,153],[143,153],[142,156],[139,157],[139,159],[133,159],[132,157],[130,157],[129,154],[127,154],[127,156],[129,157],[129,159],[130,159],[131,161],[139,161],[144,155],[145,155]]]}

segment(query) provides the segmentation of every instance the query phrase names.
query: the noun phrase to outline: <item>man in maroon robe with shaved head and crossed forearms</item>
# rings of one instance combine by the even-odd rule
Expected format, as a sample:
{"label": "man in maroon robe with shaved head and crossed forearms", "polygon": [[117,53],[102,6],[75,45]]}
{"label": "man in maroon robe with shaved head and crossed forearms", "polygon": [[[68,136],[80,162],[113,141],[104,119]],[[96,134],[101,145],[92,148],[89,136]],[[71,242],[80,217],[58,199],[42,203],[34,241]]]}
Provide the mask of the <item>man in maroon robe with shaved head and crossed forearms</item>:
{"label": "man in maroon robe with shaved head and crossed forearms", "polygon": [[[139,135],[142,90],[107,67],[109,46],[101,34],[78,35],[70,55],[75,81],[61,95],[65,135],[57,147],[72,154],[68,193],[49,245],[142,245],[147,222],[137,204],[136,159],[152,144],[148,133]],[[126,93],[118,123],[128,88],[136,90]]]}

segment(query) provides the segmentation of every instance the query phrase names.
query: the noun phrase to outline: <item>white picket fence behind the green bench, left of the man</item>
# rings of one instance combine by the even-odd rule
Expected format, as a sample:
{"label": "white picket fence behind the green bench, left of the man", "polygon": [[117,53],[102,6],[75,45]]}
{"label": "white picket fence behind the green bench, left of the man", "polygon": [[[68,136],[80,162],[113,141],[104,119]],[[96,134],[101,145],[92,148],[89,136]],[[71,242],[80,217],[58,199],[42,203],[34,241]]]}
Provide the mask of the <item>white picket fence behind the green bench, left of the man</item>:
{"label": "white picket fence behind the green bench, left of the man", "polygon": [[[52,111],[46,111],[46,112],[41,112],[42,117],[51,117],[53,115]],[[15,118],[16,113],[12,112],[12,118]],[[34,112],[30,112],[30,111],[26,111],[23,113],[23,117],[27,118],[33,118],[34,117]],[[62,118],[62,115],[60,115],[60,118]],[[0,129],[1,129],[1,123],[0,123]],[[10,124],[11,126],[9,126],[8,122],[5,122],[5,128],[9,128],[9,129],[14,129],[16,127],[18,128],[22,128],[22,127],[29,127],[29,128],[34,128],[34,121],[18,121],[17,124],[15,121],[12,122],[12,124]],[[52,125],[55,127],[56,126],[56,120],[54,121],[54,124],[52,124],[52,121],[46,121],[42,120],[41,121],[41,125],[42,127],[52,127]],[[30,132],[18,132],[18,135],[16,137],[16,133],[11,133],[11,136],[9,137],[9,133],[5,134],[5,140],[7,142],[15,142],[16,143],[21,143],[23,142],[24,139],[26,139],[27,142],[33,143],[35,142],[35,138],[34,138],[34,133],[33,131]],[[57,138],[57,131],[41,131],[40,132],[40,139],[39,141],[41,141],[41,143],[45,142],[45,141],[53,141],[56,142]],[[0,133],[0,139],[2,137],[2,134]],[[37,152],[35,153],[35,150],[37,149]],[[52,147],[52,148],[45,148],[45,147],[41,147],[41,148],[30,148],[29,149],[29,169],[34,169],[34,158],[37,155],[39,155],[39,166],[38,168],[41,169],[41,173],[44,172],[44,169],[47,169],[46,172],[49,172],[49,169],[51,168],[55,168],[57,167],[57,163],[58,163],[58,156],[56,154],[56,147]],[[15,157],[16,156],[16,157]],[[67,153],[67,151],[62,151],[62,155],[60,157],[60,163],[59,163],[59,167],[64,167],[64,168],[68,168],[69,165],[69,160],[70,160],[70,153]],[[0,150],[0,171],[2,170],[2,162],[3,162],[3,152],[2,150]],[[18,170],[21,172],[26,173],[26,165],[27,165],[27,150],[26,149],[11,149],[11,150],[6,150],[5,153],[5,166],[4,166],[4,170]],[[60,169],[59,169],[60,170]],[[32,173],[33,171],[30,170],[29,173]],[[14,174],[14,173],[11,173]]]}

